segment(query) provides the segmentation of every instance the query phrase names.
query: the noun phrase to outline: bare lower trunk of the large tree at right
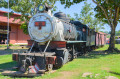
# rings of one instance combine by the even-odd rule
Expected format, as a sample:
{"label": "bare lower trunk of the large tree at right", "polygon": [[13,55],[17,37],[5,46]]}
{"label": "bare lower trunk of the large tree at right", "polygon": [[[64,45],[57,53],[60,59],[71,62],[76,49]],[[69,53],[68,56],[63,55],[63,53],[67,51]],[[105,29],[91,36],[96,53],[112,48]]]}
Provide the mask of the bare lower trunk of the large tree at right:
{"label": "bare lower trunk of the large tree at right", "polygon": [[111,26],[110,45],[108,50],[113,52],[115,49],[115,27]]}

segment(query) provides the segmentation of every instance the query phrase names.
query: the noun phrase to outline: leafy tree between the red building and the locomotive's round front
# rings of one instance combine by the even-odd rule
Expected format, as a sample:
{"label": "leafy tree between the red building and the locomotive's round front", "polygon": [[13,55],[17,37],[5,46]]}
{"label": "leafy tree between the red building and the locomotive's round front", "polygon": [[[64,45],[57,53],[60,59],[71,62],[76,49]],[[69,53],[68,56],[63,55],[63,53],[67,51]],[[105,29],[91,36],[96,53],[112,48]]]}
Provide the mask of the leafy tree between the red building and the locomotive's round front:
{"label": "leafy tree between the red building and the locomotive's round front", "polygon": [[[36,7],[39,4],[45,4],[54,7],[54,4],[57,0],[10,0],[9,5],[10,9],[12,10],[11,14],[14,12],[18,12],[21,14],[20,17],[15,18],[20,19],[20,21],[24,21],[21,25],[21,29],[25,34],[27,33],[27,25],[31,16],[37,13]],[[0,0],[0,7],[8,8],[8,1],[7,0]],[[52,9],[52,12],[56,10],[56,7]]]}

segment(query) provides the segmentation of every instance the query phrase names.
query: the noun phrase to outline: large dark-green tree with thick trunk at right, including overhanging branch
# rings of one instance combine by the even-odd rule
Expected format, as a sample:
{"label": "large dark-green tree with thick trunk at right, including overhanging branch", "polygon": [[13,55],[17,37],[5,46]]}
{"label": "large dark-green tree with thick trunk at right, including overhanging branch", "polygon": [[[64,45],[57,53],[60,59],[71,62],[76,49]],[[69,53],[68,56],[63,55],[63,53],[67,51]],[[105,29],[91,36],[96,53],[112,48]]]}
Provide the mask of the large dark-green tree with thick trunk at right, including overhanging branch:
{"label": "large dark-green tree with thick trunk at right, including overhanging branch", "polygon": [[[65,7],[80,3],[85,0],[60,0],[61,4],[65,4]],[[97,6],[95,8],[96,17],[102,19],[111,28],[110,45],[108,50],[114,51],[115,49],[115,29],[120,21],[120,0],[92,0]]]}

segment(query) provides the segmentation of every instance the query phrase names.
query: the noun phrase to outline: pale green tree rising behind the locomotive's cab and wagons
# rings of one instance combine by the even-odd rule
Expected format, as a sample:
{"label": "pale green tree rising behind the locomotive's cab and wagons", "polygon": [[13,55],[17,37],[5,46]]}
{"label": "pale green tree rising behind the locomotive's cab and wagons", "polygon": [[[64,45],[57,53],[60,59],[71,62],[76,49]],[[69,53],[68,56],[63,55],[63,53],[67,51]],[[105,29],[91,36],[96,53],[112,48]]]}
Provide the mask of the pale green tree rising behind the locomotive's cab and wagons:
{"label": "pale green tree rising behind the locomotive's cab and wagons", "polygon": [[80,12],[80,14],[75,13],[74,15],[75,20],[79,20],[83,24],[88,25],[91,29],[94,29],[96,31],[99,31],[100,29],[104,29],[103,25],[104,22],[100,20],[99,18],[94,18],[93,14],[93,8],[91,7],[91,4],[88,4],[87,2],[84,2],[84,6]]}

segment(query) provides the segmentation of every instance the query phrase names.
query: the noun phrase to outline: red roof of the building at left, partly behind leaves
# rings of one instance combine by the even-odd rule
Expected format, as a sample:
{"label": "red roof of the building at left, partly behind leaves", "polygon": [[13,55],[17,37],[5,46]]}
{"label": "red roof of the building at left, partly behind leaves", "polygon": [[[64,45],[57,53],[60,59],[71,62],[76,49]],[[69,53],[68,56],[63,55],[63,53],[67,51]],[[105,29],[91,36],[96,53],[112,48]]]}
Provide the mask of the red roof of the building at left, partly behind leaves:
{"label": "red roof of the building at left, partly behind leaves", "polygon": [[[0,10],[0,22],[3,22],[3,23],[7,23],[8,22],[8,17],[5,16],[6,13],[8,13],[8,12]],[[12,24],[21,24],[20,23],[20,19],[17,19],[17,20],[14,21],[14,18],[17,18],[17,17],[20,17],[20,16],[21,16],[21,14],[13,13],[10,16],[9,23],[12,23]]]}

